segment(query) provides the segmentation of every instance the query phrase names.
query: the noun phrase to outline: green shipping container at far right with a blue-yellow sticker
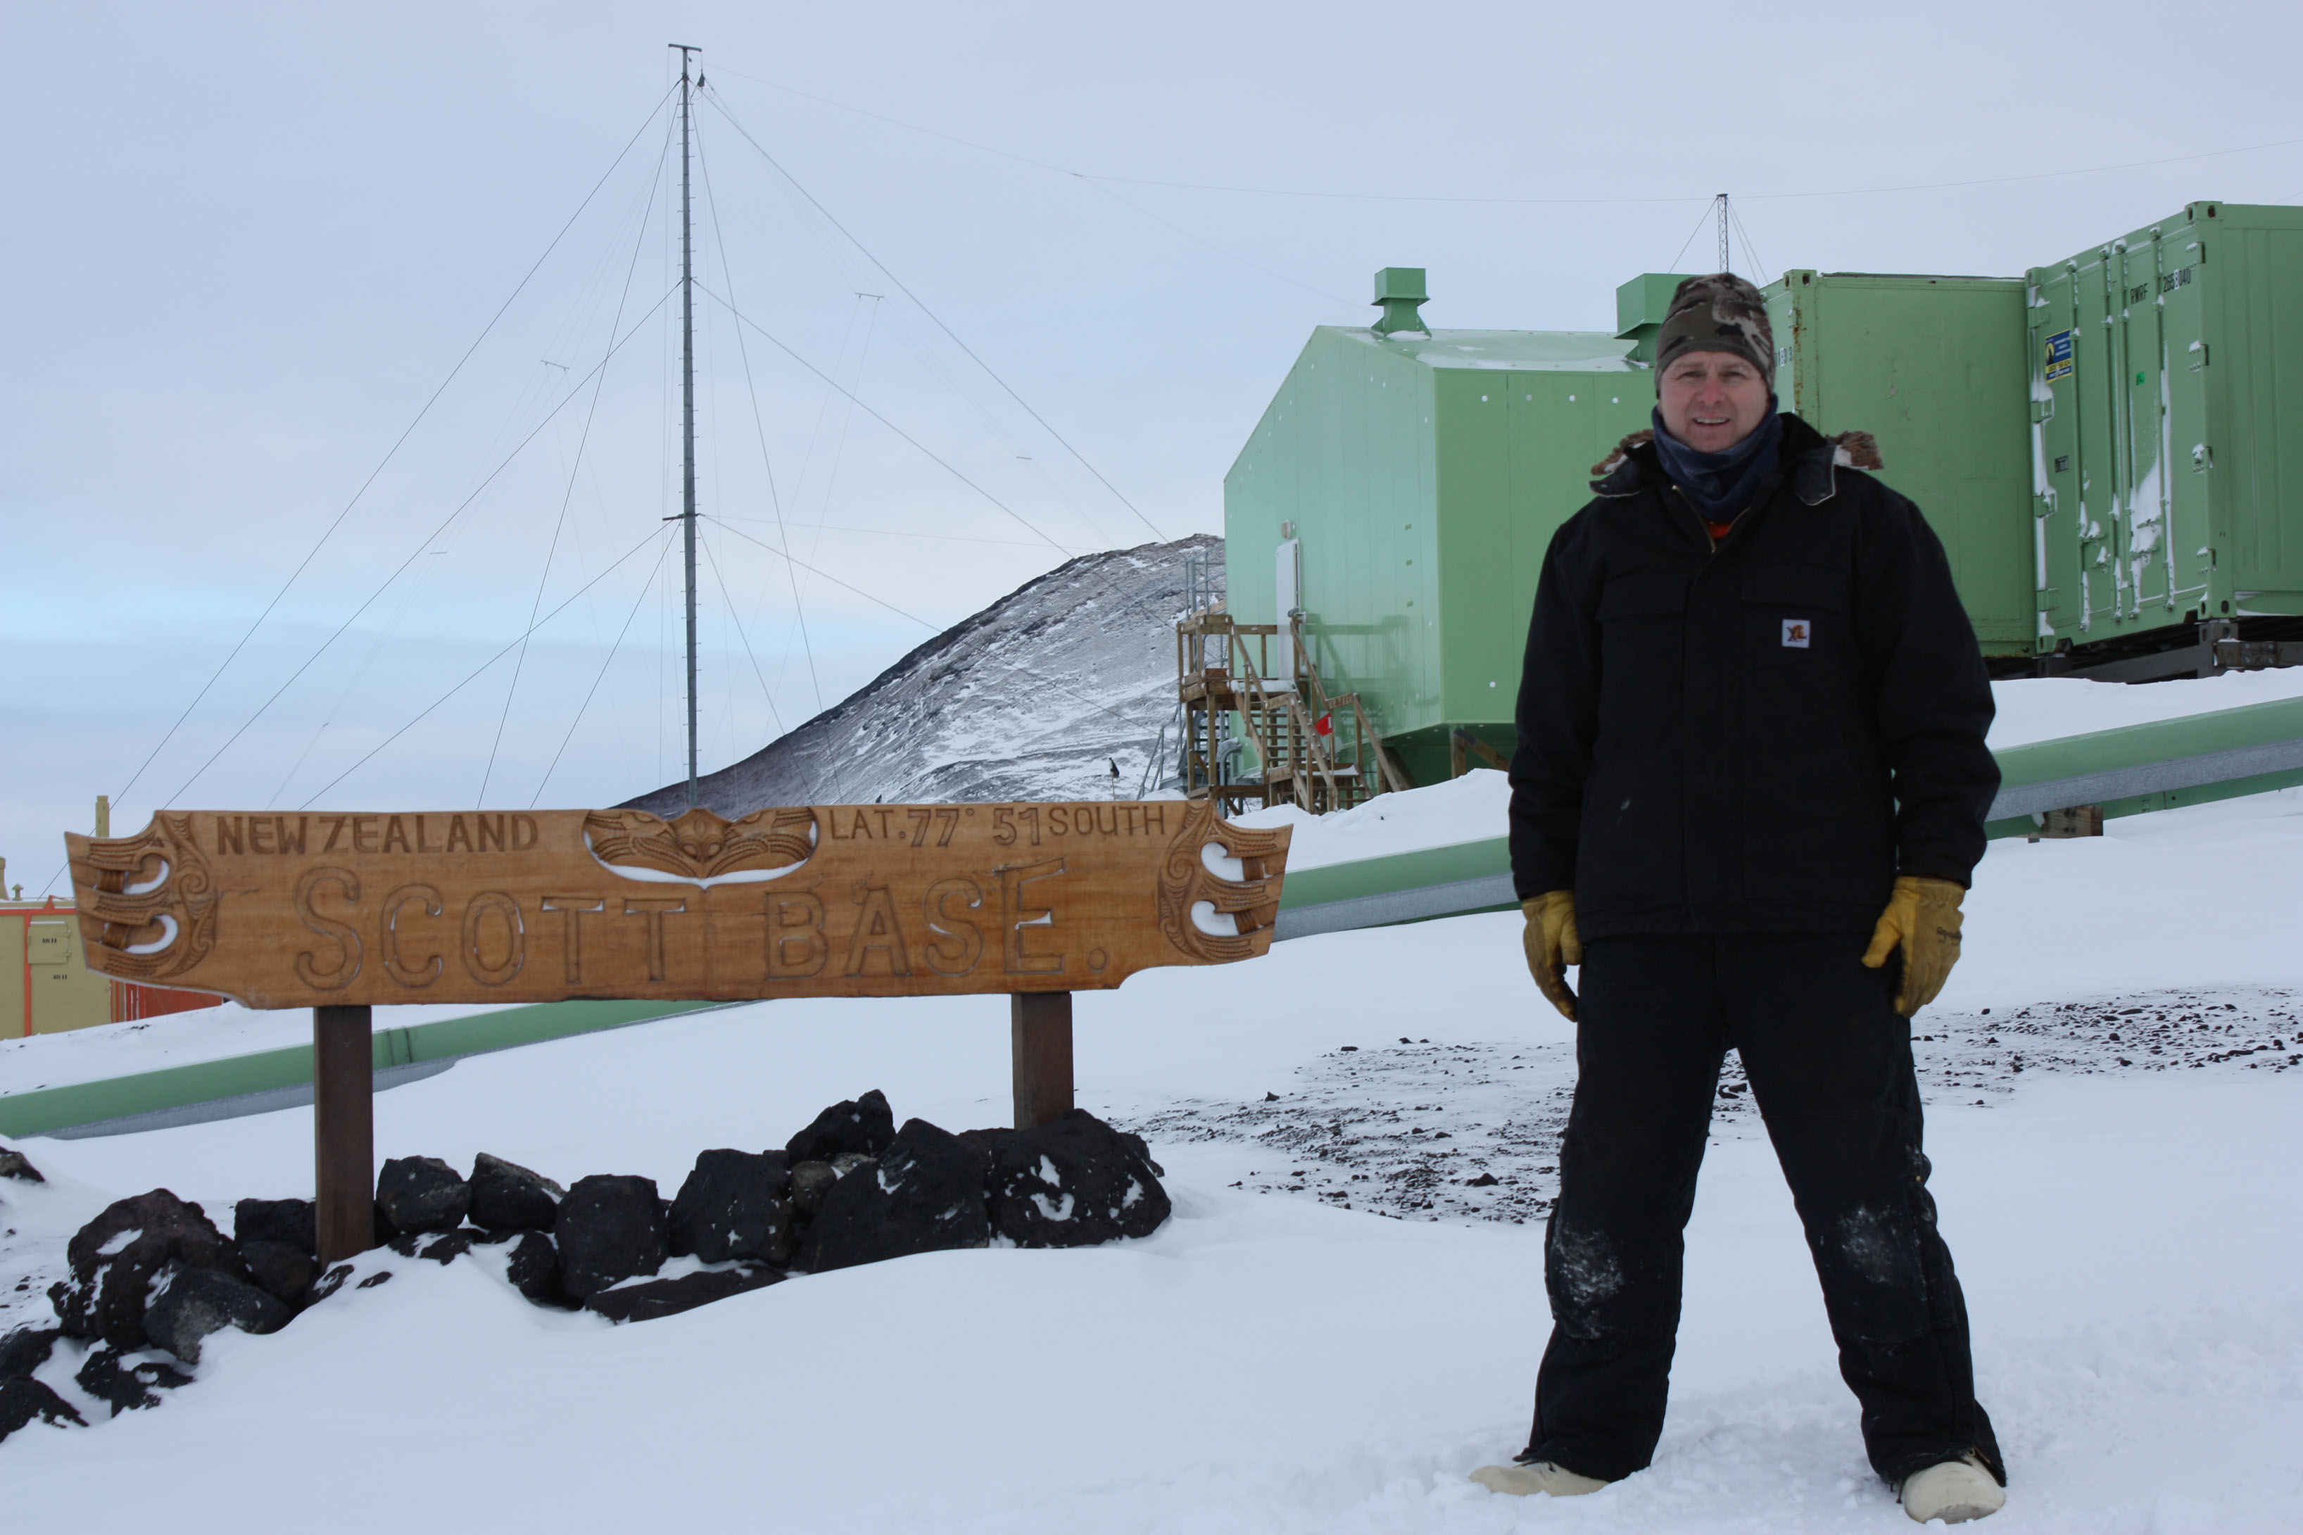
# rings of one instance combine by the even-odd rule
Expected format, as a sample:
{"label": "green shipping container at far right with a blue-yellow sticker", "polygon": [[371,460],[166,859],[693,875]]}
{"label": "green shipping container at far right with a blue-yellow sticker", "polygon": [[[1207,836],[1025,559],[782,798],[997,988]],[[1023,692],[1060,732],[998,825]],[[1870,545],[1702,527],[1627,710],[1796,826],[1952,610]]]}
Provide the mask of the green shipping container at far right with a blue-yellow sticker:
{"label": "green shipping container at far right with a blue-yellow sticker", "polygon": [[2192,203],[2029,274],[2038,647],[2303,614],[2303,209]]}

